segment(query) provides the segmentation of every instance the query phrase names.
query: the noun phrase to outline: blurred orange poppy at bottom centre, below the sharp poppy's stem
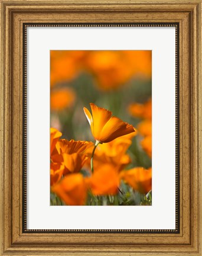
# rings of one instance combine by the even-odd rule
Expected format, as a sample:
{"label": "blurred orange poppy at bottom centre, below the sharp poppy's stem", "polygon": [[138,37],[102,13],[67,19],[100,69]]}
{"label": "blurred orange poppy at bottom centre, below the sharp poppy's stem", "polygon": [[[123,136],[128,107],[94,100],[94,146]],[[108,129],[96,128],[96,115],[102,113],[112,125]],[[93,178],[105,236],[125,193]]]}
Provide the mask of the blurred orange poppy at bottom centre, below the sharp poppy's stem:
{"label": "blurred orange poppy at bottom centre, below the sharp poppy's stem", "polygon": [[92,193],[97,196],[113,195],[118,193],[119,175],[113,165],[103,164],[93,172],[92,177],[86,178]]}

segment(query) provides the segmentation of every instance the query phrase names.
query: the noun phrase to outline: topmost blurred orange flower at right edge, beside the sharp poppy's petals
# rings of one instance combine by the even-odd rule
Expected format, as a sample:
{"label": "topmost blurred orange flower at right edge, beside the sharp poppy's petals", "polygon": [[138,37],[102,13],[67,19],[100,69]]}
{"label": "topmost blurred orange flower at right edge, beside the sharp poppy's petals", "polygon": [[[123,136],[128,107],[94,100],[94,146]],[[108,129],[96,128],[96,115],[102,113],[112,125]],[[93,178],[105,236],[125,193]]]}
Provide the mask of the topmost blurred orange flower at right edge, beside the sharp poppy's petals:
{"label": "topmost blurred orange flower at right edge, beside the sharp poppy's petals", "polygon": [[149,99],[144,104],[132,103],[129,105],[129,113],[133,117],[139,117],[142,119],[151,119],[152,118],[152,100]]}

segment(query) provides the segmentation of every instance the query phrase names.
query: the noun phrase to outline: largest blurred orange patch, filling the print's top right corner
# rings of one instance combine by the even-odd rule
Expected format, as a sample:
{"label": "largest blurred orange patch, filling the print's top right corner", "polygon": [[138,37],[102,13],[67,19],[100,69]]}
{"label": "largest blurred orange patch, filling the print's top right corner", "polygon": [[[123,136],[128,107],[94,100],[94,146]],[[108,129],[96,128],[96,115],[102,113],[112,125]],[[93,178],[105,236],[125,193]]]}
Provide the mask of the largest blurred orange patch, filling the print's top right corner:
{"label": "largest blurred orange patch, filling the print's top right corner", "polygon": [[95,75],[100,89],[116,89],[136,75],[151,77],[151,51],[89,51],[86,67]]}

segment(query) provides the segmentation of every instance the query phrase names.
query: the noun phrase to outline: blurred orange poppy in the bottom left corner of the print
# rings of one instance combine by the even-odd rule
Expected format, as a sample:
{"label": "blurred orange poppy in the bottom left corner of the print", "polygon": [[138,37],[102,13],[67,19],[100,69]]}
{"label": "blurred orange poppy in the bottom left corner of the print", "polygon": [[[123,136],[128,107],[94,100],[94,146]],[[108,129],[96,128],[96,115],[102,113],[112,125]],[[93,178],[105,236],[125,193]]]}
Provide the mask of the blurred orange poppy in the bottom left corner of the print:
{"label": "blurred orange poppy in the bottom left corner of the print", "polygon": [[81,206],[86,202],[87,186],[82,174],[69,174],[57,183],[51,190],[64,203],[71,206]]}

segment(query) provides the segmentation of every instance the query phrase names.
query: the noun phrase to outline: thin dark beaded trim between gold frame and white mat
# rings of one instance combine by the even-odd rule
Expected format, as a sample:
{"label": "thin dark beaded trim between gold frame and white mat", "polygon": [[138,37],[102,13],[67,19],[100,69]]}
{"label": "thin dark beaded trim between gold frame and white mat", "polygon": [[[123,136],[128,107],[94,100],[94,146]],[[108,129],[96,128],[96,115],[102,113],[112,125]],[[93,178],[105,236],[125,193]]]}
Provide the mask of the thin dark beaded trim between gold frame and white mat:
{"label": "thin dark beaded trim between gold frame and white mat", "polygon": [[[27,229],[27,28],[175,27],[175,229]],[[180,233],[179,23],[24,23],[23,24],[22,229],[24,233]]]}

